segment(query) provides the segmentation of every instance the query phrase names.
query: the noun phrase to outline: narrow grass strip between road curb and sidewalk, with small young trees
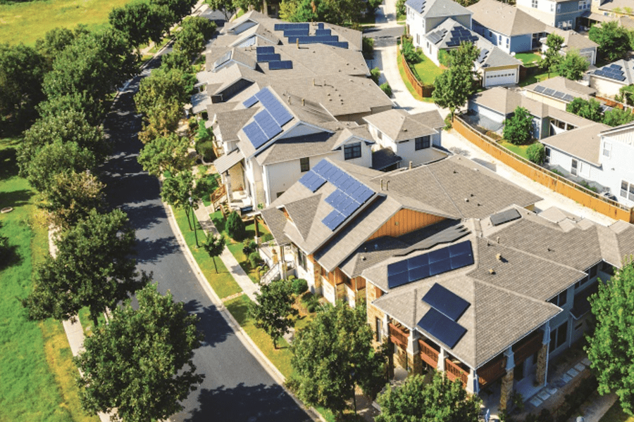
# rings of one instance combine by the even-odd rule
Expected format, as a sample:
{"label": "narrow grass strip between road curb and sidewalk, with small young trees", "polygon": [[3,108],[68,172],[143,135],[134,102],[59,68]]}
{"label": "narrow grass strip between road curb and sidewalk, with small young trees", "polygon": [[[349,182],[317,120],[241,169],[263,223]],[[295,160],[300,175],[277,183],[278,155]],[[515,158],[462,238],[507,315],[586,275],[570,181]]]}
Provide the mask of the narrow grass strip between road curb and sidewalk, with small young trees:
{"label": "narrow grass strip between road curb and sidewalk, with small young trees", "polygon": [[[233,276],[227,267],[225,267],[225,264],[223,264],[223,261],[220,260],[220,257],[216,257],[216,265],[218,266],[218,274],[216,274],[216,269],[213,266],[213,260],[209,257],[209,254],[207,254],[203,248],[197,248],[195,238],[196,234],[193,230],[189,230],[185,210],[177,210],[175,208],[173,208],[173,210],[175,212],[176,222],[178,222],[182,236],[185,237],[185,242],[189,246],[189,250],[192,251],[194,259],[198,262],[201,271],[209,281],[209,285],[213,288],[213,291],[216,292],[216,295],[222,299],[235,293],[240,293],[242,288],[240,288],[238,283],[235,282]],[[198,241],[199,244],[201,244],[205,235],[198,223],[198,220],[196,220],[196,224]]]}

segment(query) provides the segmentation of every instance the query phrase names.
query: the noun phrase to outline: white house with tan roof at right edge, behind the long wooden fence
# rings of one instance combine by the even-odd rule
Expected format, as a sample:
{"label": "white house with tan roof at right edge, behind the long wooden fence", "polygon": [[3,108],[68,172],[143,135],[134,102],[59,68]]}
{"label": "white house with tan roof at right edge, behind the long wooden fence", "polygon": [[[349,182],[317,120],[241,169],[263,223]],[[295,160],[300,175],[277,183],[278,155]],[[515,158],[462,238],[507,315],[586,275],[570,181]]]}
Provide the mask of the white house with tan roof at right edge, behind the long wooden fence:
{"label": "white house with tan roof at right edge, behind the long wooden fence", "polygon": [[594,186],[626,207],[634,206],[634,123],[595,123],[542,140],[547,165]]}

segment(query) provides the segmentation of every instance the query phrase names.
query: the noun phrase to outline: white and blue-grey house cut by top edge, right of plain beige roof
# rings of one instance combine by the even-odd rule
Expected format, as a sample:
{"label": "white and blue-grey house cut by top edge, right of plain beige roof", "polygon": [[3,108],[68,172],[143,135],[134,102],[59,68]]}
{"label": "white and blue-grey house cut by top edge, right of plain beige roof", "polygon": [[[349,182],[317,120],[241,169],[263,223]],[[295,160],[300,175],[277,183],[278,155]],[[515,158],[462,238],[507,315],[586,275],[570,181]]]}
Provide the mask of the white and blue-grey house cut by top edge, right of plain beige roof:
{"label": "white and blue-grey house cut by top edge, right of plain beige roof", "polygon": [[516,6],[546,25],[564,30],[575,30],[590,14],[590,0],[516,0]]}

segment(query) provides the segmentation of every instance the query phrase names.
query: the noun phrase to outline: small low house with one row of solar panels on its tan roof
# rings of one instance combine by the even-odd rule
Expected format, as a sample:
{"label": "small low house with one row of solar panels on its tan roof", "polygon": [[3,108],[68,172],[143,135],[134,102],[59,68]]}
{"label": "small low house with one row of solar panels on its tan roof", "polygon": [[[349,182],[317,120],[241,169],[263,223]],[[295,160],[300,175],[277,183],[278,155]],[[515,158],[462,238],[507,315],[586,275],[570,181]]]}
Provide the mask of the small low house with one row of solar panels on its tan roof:
{"label": "small low house with one row of solar panels on its tan roof", "polygon": [[527,85],[522,93],[527,98],[566,111],[566,106],[573,99],[583,98],[588,101],[597,94],[597,90],[563,76],[557,76]]}

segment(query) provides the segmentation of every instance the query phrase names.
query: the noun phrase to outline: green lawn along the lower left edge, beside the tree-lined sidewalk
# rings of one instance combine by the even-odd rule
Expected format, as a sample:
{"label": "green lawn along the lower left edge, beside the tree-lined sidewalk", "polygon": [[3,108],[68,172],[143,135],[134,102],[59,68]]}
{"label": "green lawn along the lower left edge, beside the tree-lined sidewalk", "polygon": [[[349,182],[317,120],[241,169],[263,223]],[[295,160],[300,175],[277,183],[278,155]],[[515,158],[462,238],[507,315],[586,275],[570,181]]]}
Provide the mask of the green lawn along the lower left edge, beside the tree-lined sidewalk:
{"label": "green lawn along the lower left edge, beside the tree-lined sidewalk", "polygon": [[18,298],[32,289],[34,265],[48,253],[48,234],[35,208],[35,192],[17,176],[16,142],[0,140],[1,234],[15,260],[0,270],[0,421],[98,421],[80,409],[77,368],[61,323],[28,321]]}

